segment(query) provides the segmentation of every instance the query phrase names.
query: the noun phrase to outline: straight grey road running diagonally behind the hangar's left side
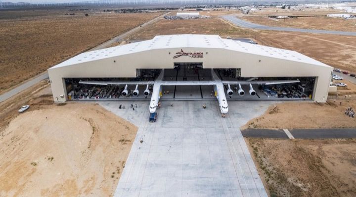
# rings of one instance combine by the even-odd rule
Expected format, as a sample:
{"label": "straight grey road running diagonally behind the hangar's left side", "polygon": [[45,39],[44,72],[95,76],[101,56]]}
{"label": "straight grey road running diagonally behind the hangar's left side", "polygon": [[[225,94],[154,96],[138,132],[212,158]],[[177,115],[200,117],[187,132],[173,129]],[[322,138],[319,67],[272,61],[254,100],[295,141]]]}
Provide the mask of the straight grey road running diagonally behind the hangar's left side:
{"label": "straight grey road running diagonally behind the hangar's left side", "polygon": [[[143,27],[145,27],[147,25],[155,23],[160,18],[168,15],[169,13],[170,12],[165,13],[165,14],[163,14],[161,16],[158,16],[158,17],[156,17],[156,18],[154,18],[154,19],[152,19],[152,20],[140,25],[140,26],[135,27],[134,29],[131,29],[128,32],[122,33],[122,34],[120,34],[120,35],[118,35],[118,36],[116,36],[116,37],[114,37],[114,38],[112,38],[112,39],[110,39],[110,40],[108,40],[108,41],[106,41],[106,42],[104,42],[104,43],[92,48],[92,49],[90,49],[89,51],[107,48],[107,47],[111,46],[114,42],[119,41],[121,39],[124,39],[125,37],[129,36],[130,34],[132,34],[134,32],[137,32],[139,29],[141,29],[141,28],[143,28]],[[21,84],[20,86],[17,86],[16,88],[13,88],[10,91],[1,94],[0,95],[0,102],[13,97],[14,95],[16,95],[16,94],[18,94],[18,93],[30,88],[31,86],[33,86],[33,85],[35,85],[35,84],[39,83],[40,81],[42,81],[44,79],[47,79],[47,78],[48,78],[48,72],[45,71],[45,72],[39,74],[38,76],[36,76],[35,78],[33,78],[31,80],[28,80],[27,82]]]}

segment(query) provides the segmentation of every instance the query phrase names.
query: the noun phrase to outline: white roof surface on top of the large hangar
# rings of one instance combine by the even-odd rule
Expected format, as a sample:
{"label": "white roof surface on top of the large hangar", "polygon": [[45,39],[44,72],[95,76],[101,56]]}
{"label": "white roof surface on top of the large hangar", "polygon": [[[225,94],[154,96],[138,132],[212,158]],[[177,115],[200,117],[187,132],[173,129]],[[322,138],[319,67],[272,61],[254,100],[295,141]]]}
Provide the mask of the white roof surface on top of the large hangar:
{"label": "white roof surface on top of the large hangar", "polygon": [[[142,51],[154,49],[171,48],[212,48],[226,49],[241,53],[256,54],[271,58],[284,59],[289,61],[302,62],[317,66],[327,66],[308,56],[295,51],[278,49],[258,44],[250,44],[232,39],[223,39],[219,35],[200,35],[200,34],[176,34],[176,35],[157,35],[151,40],[125,44],[96,51],[89,51],[79,54],[67,61],[64,61],[51,68],[76,65],[84,62],[97,61],[100,59],[112,58]],[[49,69],[51,69],[49,68]]]}

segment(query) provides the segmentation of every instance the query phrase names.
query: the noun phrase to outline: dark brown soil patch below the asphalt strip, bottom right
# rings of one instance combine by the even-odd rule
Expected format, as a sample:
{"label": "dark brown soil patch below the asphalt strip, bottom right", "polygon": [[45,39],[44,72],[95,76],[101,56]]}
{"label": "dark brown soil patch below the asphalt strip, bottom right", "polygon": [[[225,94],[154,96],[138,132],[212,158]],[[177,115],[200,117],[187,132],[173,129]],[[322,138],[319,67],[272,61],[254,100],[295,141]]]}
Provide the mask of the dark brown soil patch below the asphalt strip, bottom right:
{"label": "dark brown soil patch below the asphalt strip, bottom right", "polygon": [[271,196],[355,197],[355,139],[246,141]]}

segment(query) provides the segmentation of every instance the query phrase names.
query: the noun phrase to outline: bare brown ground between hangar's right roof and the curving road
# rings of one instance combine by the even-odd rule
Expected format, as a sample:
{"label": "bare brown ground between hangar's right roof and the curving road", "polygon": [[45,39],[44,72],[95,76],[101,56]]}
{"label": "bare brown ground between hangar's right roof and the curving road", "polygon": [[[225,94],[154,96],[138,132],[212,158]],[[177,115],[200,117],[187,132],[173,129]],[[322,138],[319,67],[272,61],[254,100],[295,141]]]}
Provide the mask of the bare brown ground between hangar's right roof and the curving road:
{"label": "bare brown ground between hangar's right roof and the curving road", "polygon": [[356,72],[355,36],[257,31],[258,43],[298,51],[333,67]]}

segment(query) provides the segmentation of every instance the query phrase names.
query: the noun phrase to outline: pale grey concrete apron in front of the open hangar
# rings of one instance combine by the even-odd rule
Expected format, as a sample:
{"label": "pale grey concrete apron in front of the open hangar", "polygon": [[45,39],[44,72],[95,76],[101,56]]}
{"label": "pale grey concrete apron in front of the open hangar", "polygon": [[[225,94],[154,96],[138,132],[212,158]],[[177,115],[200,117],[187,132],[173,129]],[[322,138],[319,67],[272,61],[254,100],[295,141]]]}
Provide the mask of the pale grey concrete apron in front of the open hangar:
{"label": "pale grey concrete apron in front of the open hangar", "polygon": [[239,127],[271,102],[162,101],[156,123],[148,102],[98,103],[139,127],[115,197],[267,197]]}

